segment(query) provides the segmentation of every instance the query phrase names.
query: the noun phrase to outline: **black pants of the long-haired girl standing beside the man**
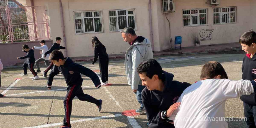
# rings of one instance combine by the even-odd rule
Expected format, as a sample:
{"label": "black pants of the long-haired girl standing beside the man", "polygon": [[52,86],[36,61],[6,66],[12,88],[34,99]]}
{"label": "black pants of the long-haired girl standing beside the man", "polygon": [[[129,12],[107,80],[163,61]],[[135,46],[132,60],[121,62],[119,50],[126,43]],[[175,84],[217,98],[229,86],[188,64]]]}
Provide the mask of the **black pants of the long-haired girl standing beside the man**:
{"label": "black pants of the long-haired girl standing beside the man", "polygon": [[99,70],[101,75],[102,82],[106,82],[109,79],[108,71],[109,71],[109,59],[104,61],[99,61]]}

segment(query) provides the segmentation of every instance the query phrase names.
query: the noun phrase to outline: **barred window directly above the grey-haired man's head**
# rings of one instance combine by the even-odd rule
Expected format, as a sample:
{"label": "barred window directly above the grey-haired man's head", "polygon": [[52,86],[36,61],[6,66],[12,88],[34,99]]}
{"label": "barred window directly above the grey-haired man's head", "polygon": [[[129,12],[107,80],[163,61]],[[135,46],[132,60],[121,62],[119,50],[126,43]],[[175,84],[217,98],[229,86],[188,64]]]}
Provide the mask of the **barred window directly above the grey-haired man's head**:
{"label": "barred window directly above the grey-haired man's head", "polygon": [[125,27],[136,27],[135,9],[129,10],[109,10],[110,31],[120,31]]}

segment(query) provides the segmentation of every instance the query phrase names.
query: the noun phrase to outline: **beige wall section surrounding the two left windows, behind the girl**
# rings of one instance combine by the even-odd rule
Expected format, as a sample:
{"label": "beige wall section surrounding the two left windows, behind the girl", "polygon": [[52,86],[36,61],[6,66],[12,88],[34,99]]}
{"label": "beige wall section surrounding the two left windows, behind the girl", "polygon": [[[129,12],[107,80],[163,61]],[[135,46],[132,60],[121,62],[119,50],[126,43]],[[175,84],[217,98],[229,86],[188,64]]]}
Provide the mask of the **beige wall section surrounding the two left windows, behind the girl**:
{"label": "beige wall section surrounding the two left windows, behind the girl", "polygon": [[[134,4],[136,3],[136,4]],[[61,17],[59,1],[41,1],[34,0],[35,6],[46,6],[47,15],[49,15],[49,26],[51,39],[56,36],[63,37],[61,31]],[[93,6],[92,6],[93,5]],[[106,46],[108,54],[125,53],[129,45],[123,41],[120,32],[110,32],[109,13],[112,9],[136,9],[137,35],[142,35],[150,39],[148,0],[62,0],[67,54],[70,57],[93,56],[91,38],[97,36]],[[75,35],[74,29],[74,11],[102,10],[104,33],[90,33]]]}

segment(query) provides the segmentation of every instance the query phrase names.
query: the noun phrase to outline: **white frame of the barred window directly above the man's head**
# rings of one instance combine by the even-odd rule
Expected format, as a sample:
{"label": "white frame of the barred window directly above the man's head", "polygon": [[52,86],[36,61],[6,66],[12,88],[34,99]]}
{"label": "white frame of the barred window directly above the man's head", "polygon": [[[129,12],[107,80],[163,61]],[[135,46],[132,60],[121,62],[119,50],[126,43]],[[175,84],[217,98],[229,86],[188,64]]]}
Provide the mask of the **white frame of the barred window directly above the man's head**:
{"label": "white frame of the barred window directly above the man's head", "polygon": [[[123,10],[125,10],[126,11],[126,15],[118,15],[118,11],[123,11]],[[115,16],[110,16],[110,11],[115,11]],[[129,15],[128,14],[128,11],[133,11],[134,12],[134,14],[132,14],[132,15]],[[120,17],[120,16],[126,16],[126,26],[129,26],[129,23],[128,23],[128,17],[129,16],[134,16],[134,30],[136,31],[137,30],[137,19],[136,19],[136,9],[134,8],[134,9],[111,9],[111,10],[108,10],[108,14],[109,14],[109,31],[110,32],[119,32],[119,31],[121,31],[122,29],[119,29],[118,27],[119,27],[119,24],[118,24],[118,17]],[[117,29],[116,30],[112,30],[111,31],[111,24],[110,24],[110,18],[111,17],[115,17],[116,18],[116,27],[117,27]]]}

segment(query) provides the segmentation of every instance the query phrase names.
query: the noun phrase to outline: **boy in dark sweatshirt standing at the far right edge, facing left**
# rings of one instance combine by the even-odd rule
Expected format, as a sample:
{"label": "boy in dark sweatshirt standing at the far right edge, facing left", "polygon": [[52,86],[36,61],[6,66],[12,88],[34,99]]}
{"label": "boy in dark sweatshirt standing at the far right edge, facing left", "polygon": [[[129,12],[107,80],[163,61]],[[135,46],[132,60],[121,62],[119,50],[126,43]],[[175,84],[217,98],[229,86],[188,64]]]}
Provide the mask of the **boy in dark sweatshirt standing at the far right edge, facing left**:
{"label": "boy in dark sweatshirt standing at the far right edge, facing left", "polygon": [[[254,31],[247,31],[243,33],[239,39],[239,42],[242,49],[246,52],[246,56],[243,58],[242,79],[252,81],[256,79],[256,33]],[[255,128],[255,92],[251,95],[243,95],[240,97],[240,99],[243,101],[244,117],[247,118],[247,128]]]}

